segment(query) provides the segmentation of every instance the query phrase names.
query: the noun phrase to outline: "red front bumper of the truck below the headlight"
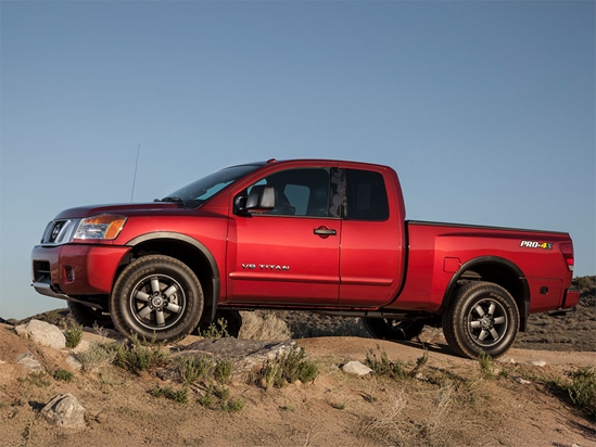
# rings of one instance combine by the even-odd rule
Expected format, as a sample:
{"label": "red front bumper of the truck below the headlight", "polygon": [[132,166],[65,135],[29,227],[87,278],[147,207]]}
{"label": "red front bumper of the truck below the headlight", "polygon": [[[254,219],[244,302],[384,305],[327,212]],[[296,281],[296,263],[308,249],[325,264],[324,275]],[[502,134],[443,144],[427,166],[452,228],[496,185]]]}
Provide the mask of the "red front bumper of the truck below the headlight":
{"label": "red front bumper of the truck below the headlight", "polygon": [[33,286],[42,295],[62,299],[107,295],[129,251],[105,245],[38,245],[31,253]]}

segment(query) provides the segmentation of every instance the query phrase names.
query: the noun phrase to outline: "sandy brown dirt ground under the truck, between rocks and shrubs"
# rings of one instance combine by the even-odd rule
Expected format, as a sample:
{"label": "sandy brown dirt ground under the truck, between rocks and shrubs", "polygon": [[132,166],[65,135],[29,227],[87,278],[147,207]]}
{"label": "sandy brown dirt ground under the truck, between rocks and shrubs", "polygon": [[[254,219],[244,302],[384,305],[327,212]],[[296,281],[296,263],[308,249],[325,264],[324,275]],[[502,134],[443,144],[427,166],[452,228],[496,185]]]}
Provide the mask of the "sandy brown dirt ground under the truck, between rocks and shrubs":
{"label": "sandy brown dirt ground under the truck, between rocks and shrubs", "polygon": [[[97,340],[88,332],[84,337]],[[478,360],[455,357],[439,339],[427,342],[428,362],[418,379],[392,380],[357,378],[340,367],[371,352],[414,366],[423,354],[420,343],[299,340],[319,367],[318,376],[269,389],[231,383],[231,396],[244,403],[232,412],[201,406],[201,384],[191,387],[187,404],[178,404],[149,393],[166,385],[154,373],[113,366],[76,372],[71,382],[36,380],[16,363],[20,354],[34,353],[51,371],[68,369],[68,353],[41,348],[2,327],[0,446],[596,446],[596,421],[545,385],[545,378],[596,366],[595,352],[515,348],[486,378]],[[534,360],[546,366],[528,365]],[[40,414],[59,393],[72,393],[86,408],[86,429],[59,427]]]}

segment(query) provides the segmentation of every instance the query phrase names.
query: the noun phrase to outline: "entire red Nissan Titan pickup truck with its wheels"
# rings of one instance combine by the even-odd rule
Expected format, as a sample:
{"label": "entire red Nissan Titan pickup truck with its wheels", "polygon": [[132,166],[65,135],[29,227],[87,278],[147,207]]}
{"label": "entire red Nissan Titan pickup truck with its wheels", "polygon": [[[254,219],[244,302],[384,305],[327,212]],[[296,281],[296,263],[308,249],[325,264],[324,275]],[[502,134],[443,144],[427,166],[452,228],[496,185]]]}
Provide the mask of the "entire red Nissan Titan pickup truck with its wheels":
{"label": "entire red Nissan Titan pickup truck with its wheels", "polygon": [[153,203],[62,212],[33,251],[33,285],[85,325],[157,342],[223,309],[302,309],[388,340],[442,325],[466,357],[503,355],[530,314],[578,303],[569,234],[405,214],[386,166],[232,166]]}

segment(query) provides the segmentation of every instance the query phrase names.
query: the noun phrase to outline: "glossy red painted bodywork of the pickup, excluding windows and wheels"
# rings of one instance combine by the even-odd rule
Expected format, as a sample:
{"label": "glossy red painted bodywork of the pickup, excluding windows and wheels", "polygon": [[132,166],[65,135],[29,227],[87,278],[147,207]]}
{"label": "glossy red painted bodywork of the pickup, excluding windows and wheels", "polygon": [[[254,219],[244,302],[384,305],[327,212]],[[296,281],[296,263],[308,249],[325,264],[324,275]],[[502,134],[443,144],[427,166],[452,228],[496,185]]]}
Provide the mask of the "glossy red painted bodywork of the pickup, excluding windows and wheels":
{"label": "glossy red painted bodywork of the pickup, excluding windows and wheels", "polygon": [[[234,214],[234,199],[246,188],[293,168],[379,173],[389,218]],[[56,220],[99,214],[127,217],[116,239],[74,240],[34,248],[36,265],[49,263],[51,278],[43,281],[55,293],[78,298],[109,295],[119,269],[131,255],[142,256],[140,247],[151,241],[153,252],[175,246],[167,253],[170,256],[188,248],[192,254],[180,256],[190,264],[192,259],[211,259],[207,276],[219,279],[215,299],[220,307],[441,314],[455,281],[464,273],[494,282],[503,281],[507,273],[505,284],[518,303],[529,299],[531,312],[569,308],[578,302],[578,294],[569,291],[573,268],[569,234],[406,221],[400,181],[386,166],[270,162],[198,208],[180,208],[175,203],[102,205],[67,209]],[[40,278],[38,273],[34,281]],[[541,293],[545,288],[548,293]]]}

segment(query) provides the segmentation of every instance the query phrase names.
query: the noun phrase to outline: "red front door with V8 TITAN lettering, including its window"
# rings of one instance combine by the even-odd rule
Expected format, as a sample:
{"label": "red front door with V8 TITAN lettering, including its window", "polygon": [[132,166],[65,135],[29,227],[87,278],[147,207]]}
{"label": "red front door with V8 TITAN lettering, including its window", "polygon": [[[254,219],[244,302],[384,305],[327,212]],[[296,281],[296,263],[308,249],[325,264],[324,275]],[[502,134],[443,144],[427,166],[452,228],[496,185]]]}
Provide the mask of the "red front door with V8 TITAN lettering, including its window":
{"label": "red front door with V8 TITAN lettering, including its window", "polygon": [[331,170],[287,169],[254,183],[275,188],[276,205],[230,219],[228,303],[337,304],[341,219],[330,216]]}

